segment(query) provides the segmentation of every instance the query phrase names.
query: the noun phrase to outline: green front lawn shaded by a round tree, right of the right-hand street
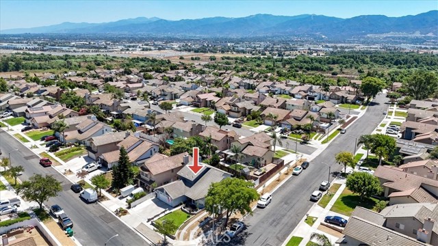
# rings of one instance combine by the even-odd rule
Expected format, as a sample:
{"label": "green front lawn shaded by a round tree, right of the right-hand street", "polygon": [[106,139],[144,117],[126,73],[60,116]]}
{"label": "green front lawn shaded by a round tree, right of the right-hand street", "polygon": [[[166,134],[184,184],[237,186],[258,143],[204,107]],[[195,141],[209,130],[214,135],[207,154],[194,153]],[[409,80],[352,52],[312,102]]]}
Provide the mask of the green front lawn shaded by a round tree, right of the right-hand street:
{"label": "green front lawn shaded by a round tree, right of the right-hand street", "polygon": [[378,200],[375,198],[363,197],[363,200],[361,200],[359,195],[355,195],[350,190],[344,189],[339,198],[337,198],[335,204],[331,207],[331,211],[351,216],[353,210],[355,210],[357,206],[372,209],[377,202]]}

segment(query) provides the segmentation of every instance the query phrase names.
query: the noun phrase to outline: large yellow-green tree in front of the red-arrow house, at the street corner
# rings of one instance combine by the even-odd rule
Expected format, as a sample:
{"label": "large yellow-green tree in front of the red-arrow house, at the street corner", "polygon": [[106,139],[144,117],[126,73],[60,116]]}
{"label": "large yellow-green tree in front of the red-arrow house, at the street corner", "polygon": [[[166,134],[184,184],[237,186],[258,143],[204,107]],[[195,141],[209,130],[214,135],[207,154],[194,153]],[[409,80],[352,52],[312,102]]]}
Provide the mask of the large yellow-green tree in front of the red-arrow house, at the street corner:
{"label": "large yellow-green tree in front of the red-arrow house, at the street corner", "polygon": [[254,189],[253,182],[240,178],[225,178],[220,182],[212,183],[205,197],[205,210],[216,215],[219,209],[225,210],[225,223],[229,217],[239,211],[242,215],[253,214],[250,204],[259,199],[259,193]]}

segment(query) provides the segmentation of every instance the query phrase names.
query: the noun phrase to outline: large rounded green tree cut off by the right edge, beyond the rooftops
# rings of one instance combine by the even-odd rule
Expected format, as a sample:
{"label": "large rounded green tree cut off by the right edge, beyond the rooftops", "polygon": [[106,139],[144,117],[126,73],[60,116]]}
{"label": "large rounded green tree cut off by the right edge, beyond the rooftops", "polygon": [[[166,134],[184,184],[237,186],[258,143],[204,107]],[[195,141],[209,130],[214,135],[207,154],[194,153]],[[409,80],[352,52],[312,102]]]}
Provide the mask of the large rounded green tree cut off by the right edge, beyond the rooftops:
{"label": "large rounded green tree cut off by the right edge, beyond the rooftops", "polygon": [[438,91],[438,78],[433,72],[418,70],[411,74],[403,86],[407,89],[409,96],[415,100],[423,100]]}

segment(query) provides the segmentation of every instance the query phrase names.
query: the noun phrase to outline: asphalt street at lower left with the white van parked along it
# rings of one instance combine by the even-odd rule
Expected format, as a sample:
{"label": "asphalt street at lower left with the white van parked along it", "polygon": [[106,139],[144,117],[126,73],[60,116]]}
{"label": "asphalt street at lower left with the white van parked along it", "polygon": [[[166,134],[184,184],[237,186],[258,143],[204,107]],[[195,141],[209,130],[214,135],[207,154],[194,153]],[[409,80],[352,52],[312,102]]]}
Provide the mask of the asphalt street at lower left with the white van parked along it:
{"label": "asphalt street at lower left with the white van parked along it", "polygon": [[112,238],[110,245],[149,245],[138,234],[129,229],[124,223],[118,220],[113,213],[108,212],[100,204],[86,204],[79,198],[79,194],[70,190],[72,184],[64,176],[51,167],[42,167],[38,161],[39,157],[25,148],[21,142],[11,137],[3,130],[0,130],[0,148],[2,157],[7,157],[11,152],[12,165],[23,165],[25,172],[19,177],[27,180],[34,174],[51,174],[62,182],[62,192],[57,197],[52,197],[46,206],[58,204],[64,208],[65,213],[72,219],[75,238],[82,245],[104,245],[108,238]]}

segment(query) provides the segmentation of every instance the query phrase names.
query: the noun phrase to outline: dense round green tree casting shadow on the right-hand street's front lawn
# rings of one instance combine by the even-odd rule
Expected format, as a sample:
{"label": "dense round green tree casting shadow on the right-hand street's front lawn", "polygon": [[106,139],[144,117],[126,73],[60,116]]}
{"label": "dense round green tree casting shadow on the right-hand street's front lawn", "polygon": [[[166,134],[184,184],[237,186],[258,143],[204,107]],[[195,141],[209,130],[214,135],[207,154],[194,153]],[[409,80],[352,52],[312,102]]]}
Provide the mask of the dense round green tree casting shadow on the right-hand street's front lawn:
{"label": "dense round green tree casting shadow on the right-hand street's front lawn", "polygon": [[353,172],[347,177],[346,187],[353,193],[359,194],[361,200],[363,197],[379,195],[383,189],[378,178],[368,172]]}

